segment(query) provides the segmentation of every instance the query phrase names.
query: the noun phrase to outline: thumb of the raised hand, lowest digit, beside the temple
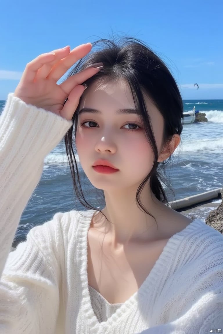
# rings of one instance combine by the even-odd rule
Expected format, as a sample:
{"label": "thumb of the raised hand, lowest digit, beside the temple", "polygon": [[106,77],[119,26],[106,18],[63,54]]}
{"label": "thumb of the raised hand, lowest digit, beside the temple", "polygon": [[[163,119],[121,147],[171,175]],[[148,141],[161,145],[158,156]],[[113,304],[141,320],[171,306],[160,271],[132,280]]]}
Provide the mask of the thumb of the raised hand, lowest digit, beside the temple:
{"label": "thumb of the raised hand, lowest digit, beside the temple", "polygon": [[67,120],[72,119],[84,90],[84,86],[78,85],[71,91],[63,109],[61,110],[61,117],[66,118]]}

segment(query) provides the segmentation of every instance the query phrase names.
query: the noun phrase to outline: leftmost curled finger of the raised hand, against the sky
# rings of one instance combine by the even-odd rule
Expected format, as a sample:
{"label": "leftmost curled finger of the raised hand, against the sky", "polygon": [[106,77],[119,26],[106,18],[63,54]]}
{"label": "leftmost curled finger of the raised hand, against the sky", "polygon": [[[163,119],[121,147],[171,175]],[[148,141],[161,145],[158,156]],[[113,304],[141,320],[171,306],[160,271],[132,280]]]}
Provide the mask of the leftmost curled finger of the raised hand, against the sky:
{"label": "leftmost curled finger of the raised hand, against the sky", "polygon": [[30,61],[22,74],[21,80],[23,82],[32,82],[36,76],[37,71],[46,63],[49,63],[55,59],[55,53],[43,53],[40,54],[38,57]]}

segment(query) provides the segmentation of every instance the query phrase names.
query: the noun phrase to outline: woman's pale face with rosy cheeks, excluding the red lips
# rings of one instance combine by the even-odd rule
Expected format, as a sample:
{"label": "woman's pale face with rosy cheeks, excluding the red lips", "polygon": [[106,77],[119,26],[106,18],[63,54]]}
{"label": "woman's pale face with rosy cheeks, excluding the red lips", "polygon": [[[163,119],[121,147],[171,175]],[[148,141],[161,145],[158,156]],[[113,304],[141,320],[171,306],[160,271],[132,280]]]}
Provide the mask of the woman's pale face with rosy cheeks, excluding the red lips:
{"label": "woman's pale face with rosy cheeks, excluding the red lips", "polygon": [[[146,96],[158,153],[161,149],[163,117]],[[82,97],[76,146],[82,168],[98,189],[137,189],[153,165],[153,153],[134,101],[124,82],[94,83]],[[108,160],[118,171],[104,174],[94,163]]]}

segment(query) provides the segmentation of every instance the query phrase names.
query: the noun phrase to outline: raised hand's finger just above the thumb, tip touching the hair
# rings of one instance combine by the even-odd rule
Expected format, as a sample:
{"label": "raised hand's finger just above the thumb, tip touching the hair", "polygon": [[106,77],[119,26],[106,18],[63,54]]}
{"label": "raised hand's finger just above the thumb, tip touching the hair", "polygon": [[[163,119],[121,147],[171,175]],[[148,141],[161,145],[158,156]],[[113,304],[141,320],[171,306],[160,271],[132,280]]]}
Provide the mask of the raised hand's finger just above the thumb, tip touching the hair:
{"label": "raised hand's finger just above the thumb, tip touching the hair", "polygon": [[61,86],[62,90],[68,95],[75,86],[81,85],[84,81],[95,75],[102,66],[103,64],[101,63],[101,65],[97,64],[97,67],[86,68],[83,71],[70,76],[59,86]]}

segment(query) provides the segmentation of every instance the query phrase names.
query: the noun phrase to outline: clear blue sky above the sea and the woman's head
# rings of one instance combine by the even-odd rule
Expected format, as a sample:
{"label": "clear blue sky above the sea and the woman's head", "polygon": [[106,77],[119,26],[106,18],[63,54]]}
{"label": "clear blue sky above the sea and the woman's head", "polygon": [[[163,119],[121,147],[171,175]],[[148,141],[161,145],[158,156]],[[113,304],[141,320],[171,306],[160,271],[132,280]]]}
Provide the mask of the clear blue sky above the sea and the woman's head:
{"label": "clear blue sky above the sea and the woman's head", "polygon": [[2,0],[0,100],[38,54],[112,32],[148,43],[171,69],[183,99],[223,99],[222,12],[222,0]]}

